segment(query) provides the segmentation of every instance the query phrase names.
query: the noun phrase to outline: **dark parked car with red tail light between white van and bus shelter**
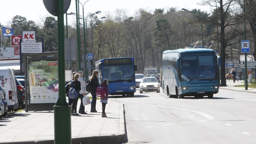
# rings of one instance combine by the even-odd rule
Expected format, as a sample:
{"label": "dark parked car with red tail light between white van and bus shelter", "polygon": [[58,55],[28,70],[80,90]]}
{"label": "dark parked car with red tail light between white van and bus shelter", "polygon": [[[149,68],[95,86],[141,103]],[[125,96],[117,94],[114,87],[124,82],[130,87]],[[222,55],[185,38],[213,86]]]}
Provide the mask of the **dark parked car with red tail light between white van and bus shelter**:
{"label": "dark parked car with red tail light between white van and bus shelter", "polygon": [[25,108],[25,89],[24,86],[21,85],[21,83],[18,81],[17,78],[15,78],[16,81],[16,87],[17,87],[17,96],[18,96],[18,102],[19,102],[19,109]]}

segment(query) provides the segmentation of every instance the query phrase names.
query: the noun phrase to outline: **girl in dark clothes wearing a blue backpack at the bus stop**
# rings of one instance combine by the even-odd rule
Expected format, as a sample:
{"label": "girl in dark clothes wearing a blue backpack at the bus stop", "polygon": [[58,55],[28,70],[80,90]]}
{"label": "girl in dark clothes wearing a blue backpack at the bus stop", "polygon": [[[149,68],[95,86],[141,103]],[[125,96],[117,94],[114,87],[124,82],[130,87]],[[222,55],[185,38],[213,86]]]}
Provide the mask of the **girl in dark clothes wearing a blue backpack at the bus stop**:
{"label": "girl in dark clothes wearing a blue backpack at the bus stop", "polygon": [[78,94],[81,90],[81,83],[78,81],[79,74],[75,74],[74,80],[71,82],[71,88],[69,90],[69,98],[72,100],[72,115],[79,116],[77,114],[77,102],[78,102]]}

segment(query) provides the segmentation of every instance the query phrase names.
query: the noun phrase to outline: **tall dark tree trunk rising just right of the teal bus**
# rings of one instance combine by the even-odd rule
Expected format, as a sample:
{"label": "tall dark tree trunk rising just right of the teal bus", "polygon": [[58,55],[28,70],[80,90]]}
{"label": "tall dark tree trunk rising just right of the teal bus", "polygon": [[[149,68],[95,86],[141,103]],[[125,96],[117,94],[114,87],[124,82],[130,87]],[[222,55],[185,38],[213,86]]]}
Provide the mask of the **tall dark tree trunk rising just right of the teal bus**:
{"label": "tall dark tree trunk rising just right of the teal bus", "polygon": [[221,85],[220,86],[227,86],[226,84],[226,69],[225,69],[225,26],[224,26],[224,12],[223,12],[223,4],[222,0],[220,0],[220,17],[221,17],[221,34],[220,34],[220,41],[221,41]]}

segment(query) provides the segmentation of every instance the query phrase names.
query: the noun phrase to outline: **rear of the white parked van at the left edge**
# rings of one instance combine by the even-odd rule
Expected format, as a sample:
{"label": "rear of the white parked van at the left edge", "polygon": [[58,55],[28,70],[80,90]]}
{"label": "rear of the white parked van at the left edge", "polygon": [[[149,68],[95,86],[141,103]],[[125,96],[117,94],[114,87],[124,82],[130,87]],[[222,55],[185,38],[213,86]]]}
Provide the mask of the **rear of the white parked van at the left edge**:
{"label": "rear of the white parked van at the left edge", "polygon": [[14,90],[13,86],[11,84],[12,78],[10,77],[10,70],[1,70],[0,71],[0,79],[1,79],[1,84],[5,88],[5,93],[6,93],[6,102],[8,106],[12,106],[15,104],[15,98],[13,97]]}

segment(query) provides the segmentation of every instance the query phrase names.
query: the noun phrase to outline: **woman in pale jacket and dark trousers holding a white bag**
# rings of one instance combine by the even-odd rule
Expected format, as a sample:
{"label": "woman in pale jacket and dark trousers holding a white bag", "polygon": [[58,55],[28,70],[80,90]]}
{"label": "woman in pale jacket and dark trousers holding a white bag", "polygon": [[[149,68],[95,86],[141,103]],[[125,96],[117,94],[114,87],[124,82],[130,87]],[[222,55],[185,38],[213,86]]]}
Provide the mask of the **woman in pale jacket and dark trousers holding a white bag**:
{"label": "woman in pale jacket and dark trousers holding a white bag", "polygon": [[80,70],[80,71],[78,71],[78,74],[79,74],[78,81],[81,83],[81,90],[79,92],[79,97],[80,97],[80,100],[81,100],[81,104],[80,104],[80,108],[79,108],[79,114],[87,114],[84,110],[85,108],[84,108],[84,105],[83,105],[83,96],[86,95],[86,83],[85,83],[85,80],[83,78],[84,72],[82,70]]}

